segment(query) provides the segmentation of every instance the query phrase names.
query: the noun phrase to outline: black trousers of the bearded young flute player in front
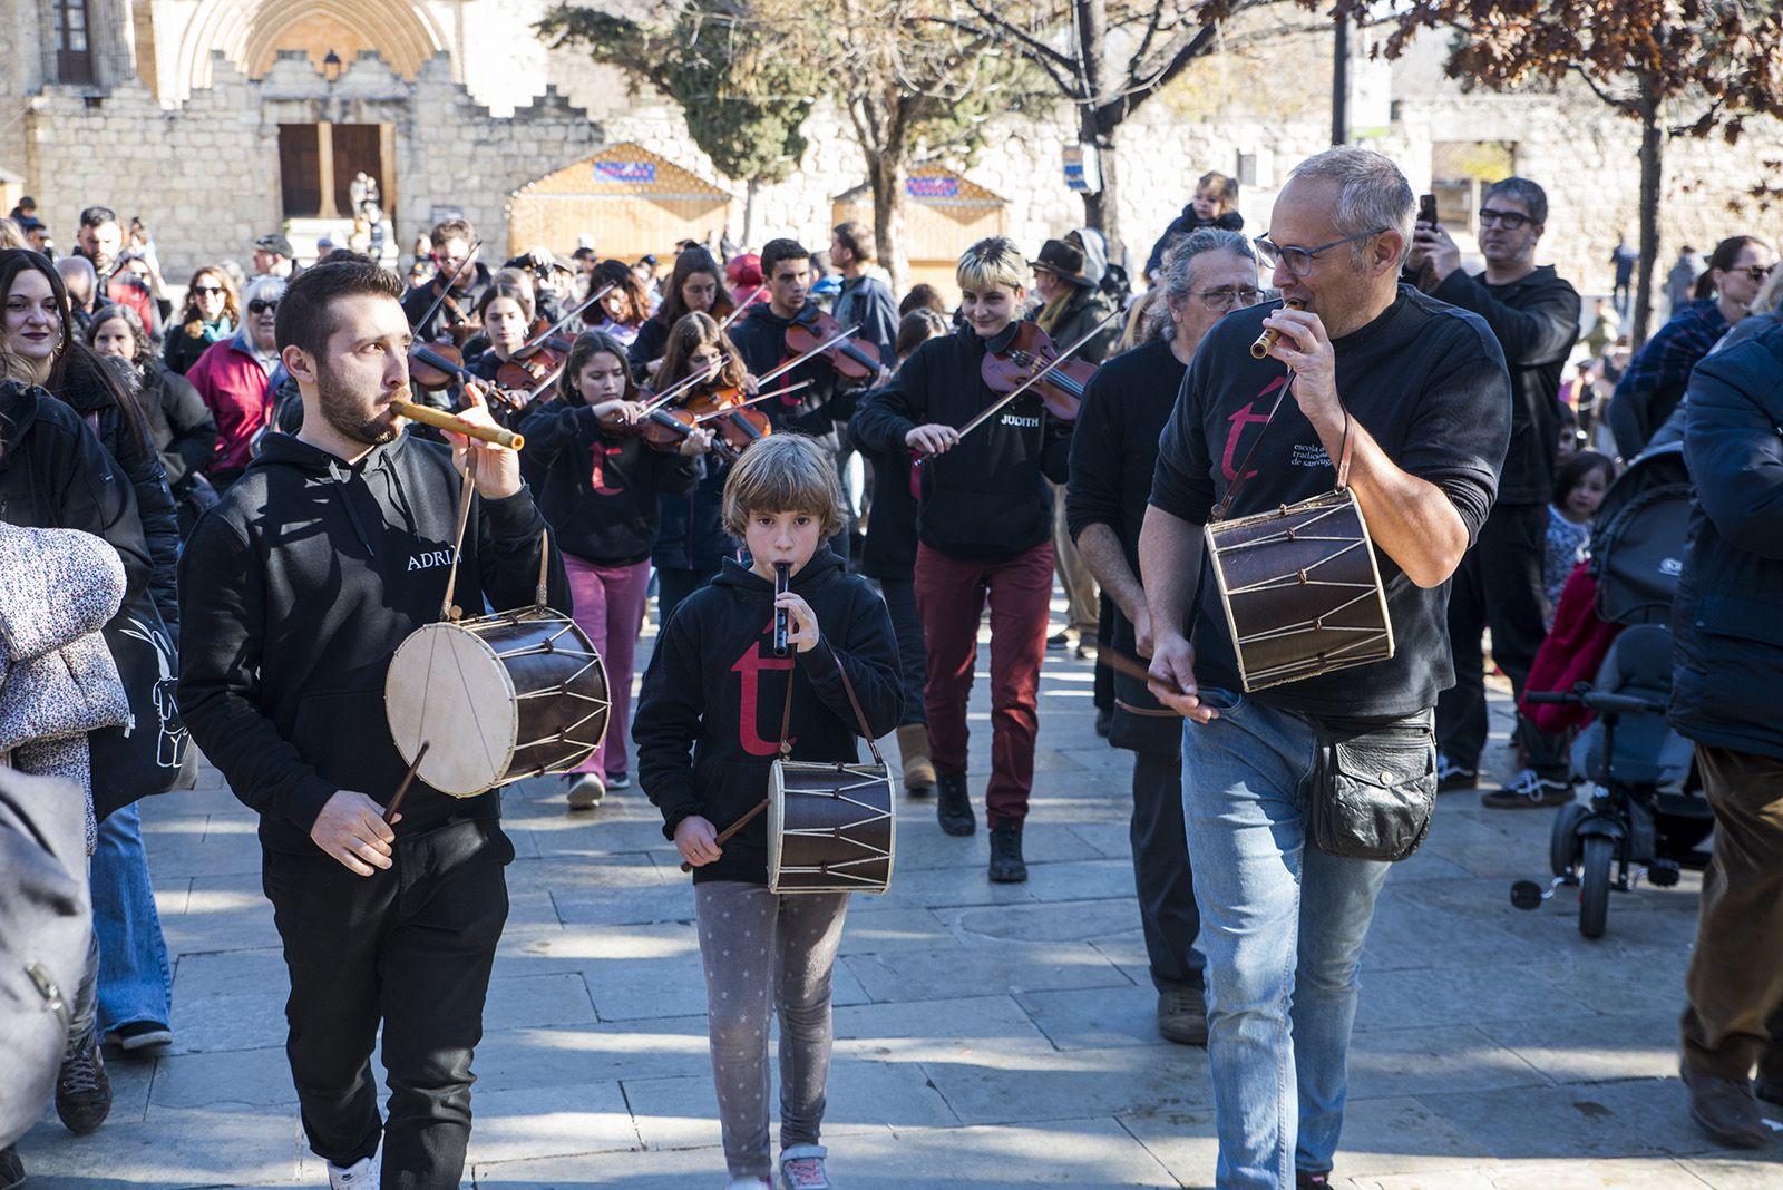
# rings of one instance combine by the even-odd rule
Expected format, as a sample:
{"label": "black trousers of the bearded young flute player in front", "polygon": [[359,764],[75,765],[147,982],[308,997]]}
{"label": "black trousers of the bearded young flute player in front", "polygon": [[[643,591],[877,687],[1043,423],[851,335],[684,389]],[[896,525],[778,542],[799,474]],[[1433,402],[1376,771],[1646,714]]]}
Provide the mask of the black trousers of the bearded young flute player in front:
{"label": "black trousers of the bearded young flute player in front", "polygon": [[[310,1149],[353,1165],[383,1138],[383,1190],[456,1190],[471,1140],[471,1053],[508,919],[496,821],[399,839],[396,866],[355,876],[319,850],[262,855],[285,944],[285,1055]],[[389,1121],[371,1053],[383,1024]]]}

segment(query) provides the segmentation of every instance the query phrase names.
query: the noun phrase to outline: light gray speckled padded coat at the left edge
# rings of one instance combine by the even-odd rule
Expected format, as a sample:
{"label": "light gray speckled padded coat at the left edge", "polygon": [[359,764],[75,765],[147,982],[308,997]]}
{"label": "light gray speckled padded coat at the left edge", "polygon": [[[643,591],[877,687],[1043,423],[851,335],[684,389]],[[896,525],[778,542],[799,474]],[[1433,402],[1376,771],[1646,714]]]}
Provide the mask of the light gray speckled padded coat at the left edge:
{"label": "light gray speckled padded coat at the left edge", "polygon": [[96,827],[87,732],[130,720],[100,636],[123,591],[123,563],[102,538],[0,522],[0,755],[23,773],[80,786],[87,855]]}

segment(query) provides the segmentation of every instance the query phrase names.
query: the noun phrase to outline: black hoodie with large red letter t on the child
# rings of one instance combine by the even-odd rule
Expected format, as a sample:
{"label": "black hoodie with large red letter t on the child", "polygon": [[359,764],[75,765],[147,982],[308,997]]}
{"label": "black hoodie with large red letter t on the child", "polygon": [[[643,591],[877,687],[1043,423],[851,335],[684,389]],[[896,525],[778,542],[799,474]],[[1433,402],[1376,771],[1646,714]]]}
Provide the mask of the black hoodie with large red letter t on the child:
{"label": "black hoodie with large red letter t on the child", "polygon": [[[809,652],[774,656],[774,583],[735,559],[676,607],[656,641],[631,738],[638,784],[663,812],[669,839],[692,814],[724,830],[768,795],[786,673],[793,675],[788,738],[795,761],[859,759],[859,729],[838,663],[875,738],[904,713],[892,618],[867,579],[820,547],[792,575],[790,590],[817,615],[822,640]],[[767,837],[763,814],[724,844],[717,862],[695,868],[694,880],[767,884]]]}

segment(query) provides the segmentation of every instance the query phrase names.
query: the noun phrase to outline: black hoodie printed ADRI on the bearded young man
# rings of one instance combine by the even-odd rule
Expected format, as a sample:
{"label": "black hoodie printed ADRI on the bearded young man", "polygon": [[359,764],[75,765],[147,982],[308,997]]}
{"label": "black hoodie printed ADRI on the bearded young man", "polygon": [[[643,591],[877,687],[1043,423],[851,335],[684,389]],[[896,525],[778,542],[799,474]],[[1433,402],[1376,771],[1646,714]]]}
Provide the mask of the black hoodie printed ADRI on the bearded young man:
{"label": "black hoodie printed ADRI on the bearded young man", "polygon": [[[531,493],[472,501],[455,602],[467,616],[531,606],[544,518]],[[407,766],[383,714],[383,675],[439,620],[458,517],[451,451],[401,435],[358,463],[267,435],[180,559],[180,709],[193,739],[260,814],[260,843],[308,853],[339,789],[376,800]],[[551,606],[569,613],[553,550]],[[396,832],[496,818],[499,796],[456,800],[417,782]]]}

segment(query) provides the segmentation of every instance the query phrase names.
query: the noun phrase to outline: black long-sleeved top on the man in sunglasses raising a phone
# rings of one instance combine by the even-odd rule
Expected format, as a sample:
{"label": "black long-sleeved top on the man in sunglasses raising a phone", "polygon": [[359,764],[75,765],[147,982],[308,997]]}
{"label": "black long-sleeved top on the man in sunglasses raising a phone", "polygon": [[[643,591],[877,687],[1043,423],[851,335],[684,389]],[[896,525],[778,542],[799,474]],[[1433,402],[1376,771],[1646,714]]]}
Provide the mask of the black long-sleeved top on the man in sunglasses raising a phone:
{"label": "black long-sleeved top on the man in sunglasses raising a phone", "polygon": [[1455,269],[1432,298],[1473,310],[1498,337],[1510,369],[1510,449],[1498,481],[1500,504],[1546,504],[1560,449],[1560,372],[1578,342],[1578,290],[1542,265],[1508,285]]}

